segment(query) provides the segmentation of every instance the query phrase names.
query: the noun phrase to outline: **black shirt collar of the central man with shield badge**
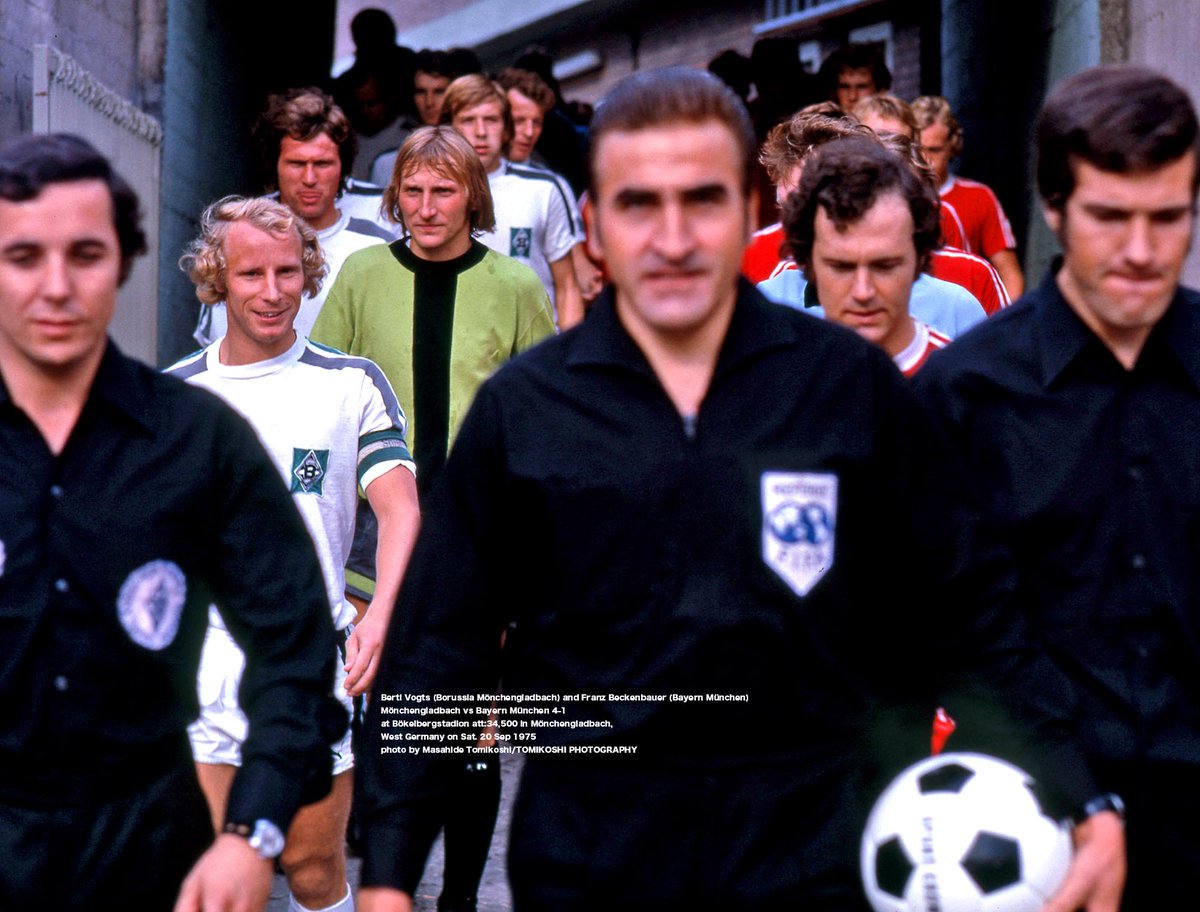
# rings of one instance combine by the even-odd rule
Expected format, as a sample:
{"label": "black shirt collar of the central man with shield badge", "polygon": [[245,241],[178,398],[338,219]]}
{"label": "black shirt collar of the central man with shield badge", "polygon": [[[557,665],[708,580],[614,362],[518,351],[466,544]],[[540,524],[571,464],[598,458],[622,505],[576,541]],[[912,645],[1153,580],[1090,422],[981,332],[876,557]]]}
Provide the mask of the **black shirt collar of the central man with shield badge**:
{"label": "black shirt collar of the central man with shield badge", "polygon": [[[716,358],[713,379],[761,352],[793,342],[796,335],[787,308],[772,304],[750,282],[739,277],[733,316]],[[654,376],[642,350],[617,317],[611,288],[588,312],[571,342],[566,364],[571,367],[612,365]]]}

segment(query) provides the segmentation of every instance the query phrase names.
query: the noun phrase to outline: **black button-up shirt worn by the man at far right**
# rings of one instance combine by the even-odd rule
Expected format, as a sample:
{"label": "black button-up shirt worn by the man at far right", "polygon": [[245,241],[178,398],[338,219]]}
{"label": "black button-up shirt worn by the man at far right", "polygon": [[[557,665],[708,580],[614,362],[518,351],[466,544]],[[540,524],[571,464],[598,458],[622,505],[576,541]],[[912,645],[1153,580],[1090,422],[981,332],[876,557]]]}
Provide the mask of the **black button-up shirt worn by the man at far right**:
{"label": "black button-up shirt worn by the man at far right", "polygon": [[1087,752],[1198,763],[1200,294],[1177,289],[1126,370],[1057,268],[935,354],[916,389],[1016,558]]}

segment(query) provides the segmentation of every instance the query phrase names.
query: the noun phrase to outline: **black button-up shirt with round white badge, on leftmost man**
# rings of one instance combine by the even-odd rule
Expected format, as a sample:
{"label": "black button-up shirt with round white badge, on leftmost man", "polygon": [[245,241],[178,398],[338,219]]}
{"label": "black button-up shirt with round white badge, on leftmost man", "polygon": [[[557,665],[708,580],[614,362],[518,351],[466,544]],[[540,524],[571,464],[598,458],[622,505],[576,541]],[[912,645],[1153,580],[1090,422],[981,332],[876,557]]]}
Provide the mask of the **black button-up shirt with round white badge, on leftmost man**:
{"label": "black button-up shirt with round white badge, on leftmost man", "polygon": [[103,800],[191,764],[210,600],[248,656],[228,818],[286,828],[328,791],[346,714],[325,587],[240,416],[109,343],[58,456],[0,377],[0,802]]}

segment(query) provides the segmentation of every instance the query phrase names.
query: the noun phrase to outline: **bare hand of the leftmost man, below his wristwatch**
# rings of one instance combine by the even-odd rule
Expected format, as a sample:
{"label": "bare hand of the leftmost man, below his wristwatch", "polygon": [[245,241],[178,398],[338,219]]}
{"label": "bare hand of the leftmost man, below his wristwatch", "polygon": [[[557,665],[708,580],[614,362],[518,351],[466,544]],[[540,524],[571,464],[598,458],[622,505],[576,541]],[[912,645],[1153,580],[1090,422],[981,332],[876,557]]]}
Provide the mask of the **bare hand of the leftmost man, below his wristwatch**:
{"label": "bare hand of the leftmost man, below his wristwatch", "polygon": [[222,833],[184,880],[175,912],[262,912],[274,875],[250,842]]}

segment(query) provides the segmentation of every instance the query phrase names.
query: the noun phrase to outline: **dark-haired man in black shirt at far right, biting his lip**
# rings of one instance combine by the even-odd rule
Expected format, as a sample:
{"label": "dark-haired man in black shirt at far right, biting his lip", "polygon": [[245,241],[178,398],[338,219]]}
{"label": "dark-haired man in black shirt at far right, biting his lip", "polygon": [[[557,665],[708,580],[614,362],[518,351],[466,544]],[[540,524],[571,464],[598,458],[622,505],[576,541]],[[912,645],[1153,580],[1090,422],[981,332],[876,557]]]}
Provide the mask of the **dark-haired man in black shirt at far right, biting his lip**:
{"label": "dark-haired man in black shirt at far right, biting his lip", "polygon": [[1036,136],[1062,258],[917,378],[1016,553],[1097,779],[1128,808],[1127,910],[1177,906],[1200,862],[1200,295],[1178,284],[1198,133],[1157,73],[1058,85]]}

